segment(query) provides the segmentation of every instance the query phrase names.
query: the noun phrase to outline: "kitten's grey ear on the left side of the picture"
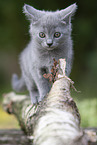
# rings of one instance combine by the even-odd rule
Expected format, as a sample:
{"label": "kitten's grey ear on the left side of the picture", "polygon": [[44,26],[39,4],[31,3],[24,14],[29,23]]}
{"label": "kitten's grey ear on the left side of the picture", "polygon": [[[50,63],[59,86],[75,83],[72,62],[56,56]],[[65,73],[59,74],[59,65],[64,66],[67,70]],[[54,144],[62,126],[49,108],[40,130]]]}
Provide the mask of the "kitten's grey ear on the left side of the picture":
{"label": "kitten's grey ear on the left side of the picture", "polygon": [[44,11],[37,10],[27,4],[23,7],[23,13],[25,13],[28,20],[30,20],[33,24],[35,24],[44,15]]}

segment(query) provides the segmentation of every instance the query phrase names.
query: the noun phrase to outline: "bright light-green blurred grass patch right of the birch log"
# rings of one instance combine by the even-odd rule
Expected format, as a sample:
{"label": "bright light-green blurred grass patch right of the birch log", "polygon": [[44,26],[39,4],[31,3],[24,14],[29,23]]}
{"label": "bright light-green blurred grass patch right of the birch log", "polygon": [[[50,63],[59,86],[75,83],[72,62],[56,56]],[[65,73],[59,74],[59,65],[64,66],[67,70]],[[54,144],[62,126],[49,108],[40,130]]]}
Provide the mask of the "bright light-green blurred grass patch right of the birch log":
{"label": "bright light-green blurred grass patch right of the birch log", "polygon": [[82,127],[97,127],[97,98],[77,101]]}

